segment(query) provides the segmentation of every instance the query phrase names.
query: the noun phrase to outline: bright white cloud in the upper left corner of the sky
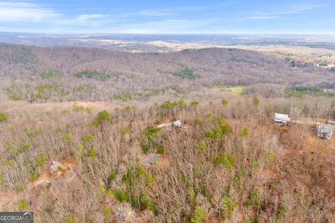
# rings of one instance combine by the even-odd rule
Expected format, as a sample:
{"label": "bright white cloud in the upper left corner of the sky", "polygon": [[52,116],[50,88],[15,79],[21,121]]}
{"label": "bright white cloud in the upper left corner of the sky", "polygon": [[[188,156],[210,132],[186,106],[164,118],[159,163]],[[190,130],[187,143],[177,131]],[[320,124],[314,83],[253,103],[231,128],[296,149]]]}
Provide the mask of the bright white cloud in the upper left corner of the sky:
{"label": "bright white cloud in the upper left corner of the sky", "polygon": [[0,22],[43,22],[61,14],[35,3],[0,1]]}

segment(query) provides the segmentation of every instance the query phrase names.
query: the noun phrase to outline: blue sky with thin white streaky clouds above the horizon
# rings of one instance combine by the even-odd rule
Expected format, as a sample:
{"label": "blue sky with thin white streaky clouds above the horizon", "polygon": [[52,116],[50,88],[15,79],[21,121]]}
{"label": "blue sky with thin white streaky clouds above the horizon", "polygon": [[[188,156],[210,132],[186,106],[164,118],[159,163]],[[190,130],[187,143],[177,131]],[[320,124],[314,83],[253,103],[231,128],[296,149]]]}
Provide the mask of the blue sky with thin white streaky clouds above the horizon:
{"label": "blue sky with thin white streaky clouds above the horizon", "polygon": [[0,0],[0,31],[335,34],[334,13],[334,0]]}

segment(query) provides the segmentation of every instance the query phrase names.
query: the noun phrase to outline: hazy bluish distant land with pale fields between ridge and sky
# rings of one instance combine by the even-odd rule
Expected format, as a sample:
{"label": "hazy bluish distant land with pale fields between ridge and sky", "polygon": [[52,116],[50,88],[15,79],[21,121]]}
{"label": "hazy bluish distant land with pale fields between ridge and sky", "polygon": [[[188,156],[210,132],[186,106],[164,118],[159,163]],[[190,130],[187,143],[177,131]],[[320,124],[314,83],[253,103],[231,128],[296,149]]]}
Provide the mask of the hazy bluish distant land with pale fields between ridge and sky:
{"label": "hazy bluish distant land with pale fields between ridge and sky", "polygon": [[[290,45],[335,49],[335,36],[332,35],[31,34],[0,32],[0,42],[41,47],[101,47],[126,52],[170,52],[186,48],[220,45]],[[180,45],[182,47],[179,47]]]}

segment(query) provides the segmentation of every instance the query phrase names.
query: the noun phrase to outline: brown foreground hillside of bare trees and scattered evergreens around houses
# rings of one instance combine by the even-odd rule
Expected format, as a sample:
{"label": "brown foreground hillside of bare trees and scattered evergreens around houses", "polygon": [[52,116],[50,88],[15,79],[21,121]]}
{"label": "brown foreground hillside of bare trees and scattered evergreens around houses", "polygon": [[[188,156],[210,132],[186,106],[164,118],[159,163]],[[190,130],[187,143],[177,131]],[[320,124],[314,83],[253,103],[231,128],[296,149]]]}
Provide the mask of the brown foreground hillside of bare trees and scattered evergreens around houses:
{"label": "brown foreground hillside of bare trees and scattered evergreens around houses", "polygon": [[[0,208],[36,222],[334,222],[335,139],[313,124],[334,118],[332,100],[227,96],[0,102]],[[274,112],[311,125],[279,127]]]}

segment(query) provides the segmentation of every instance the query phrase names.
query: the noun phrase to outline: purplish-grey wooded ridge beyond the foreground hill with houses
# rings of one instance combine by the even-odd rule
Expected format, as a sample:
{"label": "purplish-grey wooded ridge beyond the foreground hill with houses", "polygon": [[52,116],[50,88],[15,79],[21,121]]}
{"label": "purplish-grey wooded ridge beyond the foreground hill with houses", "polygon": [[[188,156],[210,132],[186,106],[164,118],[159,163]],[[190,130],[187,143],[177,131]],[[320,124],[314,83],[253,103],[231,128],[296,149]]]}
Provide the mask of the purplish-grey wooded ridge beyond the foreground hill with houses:
{"label": "purplish-grey wooded ridge beyond the foreground hill with houses", "polygon": [[169,53],[116,52],[84,47],[0,45],[3,98],[29,102],[145,100],[216,85],[314,85],[334,82],[324,69],[293,69],[274,56],[243,49]]}

